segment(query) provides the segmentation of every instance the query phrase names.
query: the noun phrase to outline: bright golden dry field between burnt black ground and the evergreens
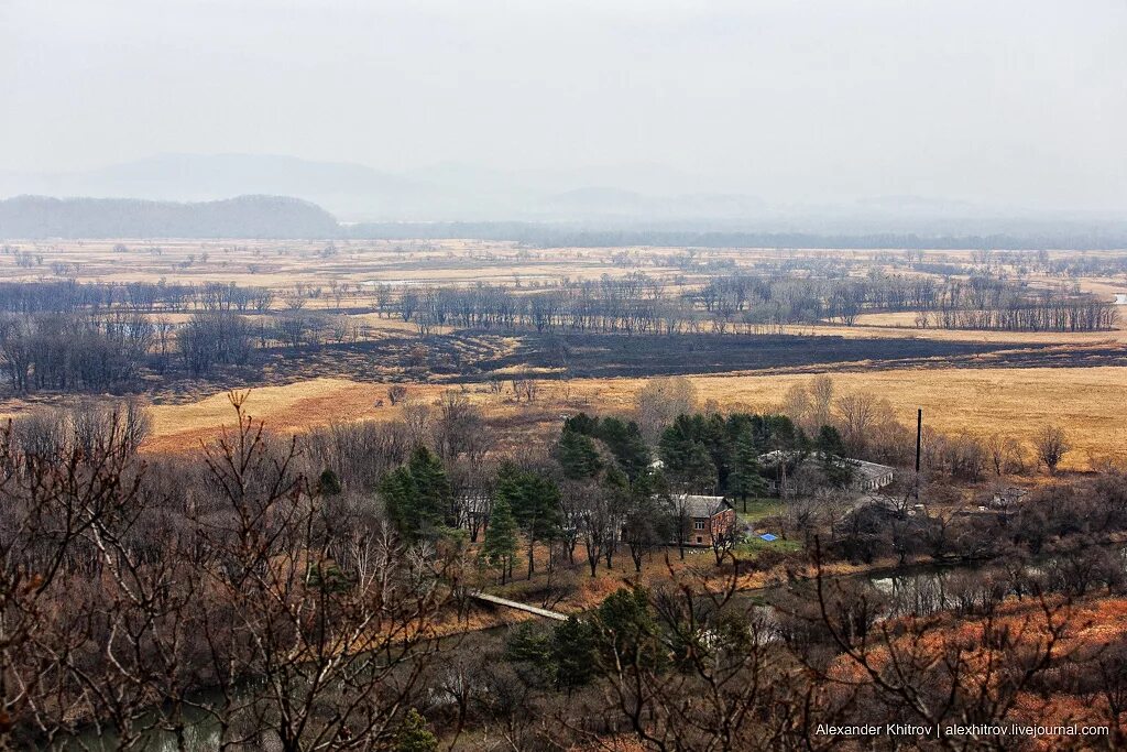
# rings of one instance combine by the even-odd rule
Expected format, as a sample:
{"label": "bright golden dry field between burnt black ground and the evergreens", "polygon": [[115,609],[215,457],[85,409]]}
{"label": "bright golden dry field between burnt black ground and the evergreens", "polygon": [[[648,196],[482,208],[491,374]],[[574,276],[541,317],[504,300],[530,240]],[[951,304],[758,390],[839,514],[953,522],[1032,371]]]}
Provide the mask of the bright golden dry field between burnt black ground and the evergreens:
{"label": "bright golden dry field between burnt black ground and the evergreens", "polygon": [[[721,409],[779,409],[795,383],[811,379],[805,374],[725,374],[692,377],[702,400],[713,399]],[[1031,436],[1046,424],[1064,426],[1073,451],[1064,467],[1085,469],[1091,457],[1112,455],[1127,460],[1127,427],[1121,395],[1127,392],[1127,369],[931,369],[838,373],[834,377],[840,395],[871,391],[887,398],[903,423],[915,419],[917,407],[924,421],[942,432],[967,432],[976,436],[993,433]],[[468,388],[469,398],[496,419],[525,414],[545,433],[568,410],[589,409],[628,413],[640,379],[589,379],[570,382],[547,381],[532,406],[517,405],[509,393],[494,395],[485,386]],[[412,384],[410,397],[433,401],[445,387]],[[334,421],[392,418],[400,408],[385,400],[387,384],[360,383],[344,379],[314,379],[285,387],[251,391],[247,407],[251,415],[279,432],[301,431]],[[376,407],[376,400],[384,400]],[[174,451],[197,446],[219,434],[231,421],[225,392],[186,405],[158,405],[150,451]]]}

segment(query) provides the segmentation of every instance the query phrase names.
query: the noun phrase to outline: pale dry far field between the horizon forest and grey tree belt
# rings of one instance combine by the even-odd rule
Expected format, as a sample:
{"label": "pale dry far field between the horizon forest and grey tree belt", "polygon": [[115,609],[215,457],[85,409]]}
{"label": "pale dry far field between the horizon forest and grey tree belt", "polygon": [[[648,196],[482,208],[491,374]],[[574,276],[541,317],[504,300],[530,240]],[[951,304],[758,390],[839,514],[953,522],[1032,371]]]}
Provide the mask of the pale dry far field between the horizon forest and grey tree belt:
{"label": "pale dry far field between the horizon forest and grey tree belt", "polygon": [[[445,283],[515,285],[538,281],[597,280],[603,275],[621,276],[645,271],[650,276],[691,284],[671,259],[692,256],[699,262],[731,264],[736,267],[782,259],[835,259],[861,262],[867,267],[898,273],[893,260],[903,262],[908,251],[863,249],[788,248],[530,248],[512,241],[492,240],[181,240],[121,239],[11,241],[7,244],[36,259],[20,266],[14,258],[0,258],[0,280],[37,281],[73,278],[80,282],[206,283],[234,282],[289,289],[295,284],[328,285],[330,281],[350,284],[391,285]],[[971,250],[925,250],[929,263],[973,265]],[[1075,251],[1055,250],[1049,259]],[[1099,258],[1119,251],[1086,251]],[[969,271],[969,266],[967,269]],[[934,273],[916,272],[922,276]],[[960,275],[955,275],[960,276]],[[1030,275],[1033,285],[1059,285],[1059,278]],[[1122,277],[1077,277],[1070,280],[1081,290],[1111,298],[1127,291]],[[895,315],[897,324],[911,326],[913,315]],[[891,321],[888,321],[891,322]]]}

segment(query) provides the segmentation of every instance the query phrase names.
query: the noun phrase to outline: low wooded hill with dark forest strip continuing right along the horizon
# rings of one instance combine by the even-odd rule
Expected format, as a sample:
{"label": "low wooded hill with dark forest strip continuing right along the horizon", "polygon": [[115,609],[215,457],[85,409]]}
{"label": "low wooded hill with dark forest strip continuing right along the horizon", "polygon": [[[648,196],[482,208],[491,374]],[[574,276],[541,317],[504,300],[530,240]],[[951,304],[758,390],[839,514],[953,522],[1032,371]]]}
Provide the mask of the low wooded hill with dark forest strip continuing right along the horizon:
{"label": "low wooded hill with dark forest strip continuing right along the horizon", "polygon": [[[1127,248],[1127,221],[1012,220],[983,232],[960,220],[942,225],[885,229],[858,223],[852,230],[810,231],[709,223],[576,222],[383,222],[341,224],[317,204],[289,196],[248,195],[178,203],[137,198],[0,201],[0,240],[39,238],[281,238],[509,240],[544,248],[668,246],[753,248],[968,248],[1075,250]],[[754,223],[752,223],[754,224]],[[979,223],[980,224],[980,223]]]}

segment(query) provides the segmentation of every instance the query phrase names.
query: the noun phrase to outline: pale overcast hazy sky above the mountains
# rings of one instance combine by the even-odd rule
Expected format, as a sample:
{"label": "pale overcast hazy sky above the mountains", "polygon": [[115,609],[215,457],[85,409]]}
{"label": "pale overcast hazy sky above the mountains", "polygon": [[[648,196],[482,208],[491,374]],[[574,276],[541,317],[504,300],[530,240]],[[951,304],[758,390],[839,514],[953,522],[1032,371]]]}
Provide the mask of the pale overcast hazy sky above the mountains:
{"label": "pale overcast hazy sky above the mountains", "polygon": [[0,0],[0,169],[655,162],[1127,210],[1125,0]]}

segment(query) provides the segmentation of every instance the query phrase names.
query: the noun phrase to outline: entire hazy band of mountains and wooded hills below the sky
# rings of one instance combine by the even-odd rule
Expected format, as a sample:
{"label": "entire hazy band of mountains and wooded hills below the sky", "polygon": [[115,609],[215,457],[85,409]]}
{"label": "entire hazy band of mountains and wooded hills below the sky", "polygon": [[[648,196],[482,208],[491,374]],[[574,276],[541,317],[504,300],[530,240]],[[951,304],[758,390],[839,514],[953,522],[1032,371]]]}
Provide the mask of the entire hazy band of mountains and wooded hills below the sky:
{"label": "entire hazy band of mountains and wooded hills below the sky", "polygon": [[82,172],[0,171],[0,200],[6,196],[11,198],[0,201],[0,237],[8,238],[508,233],[576,244],[664,238],[691,245],[701,237],[699,245],[757,239],[792,246],[820,238],[831,247],[845,245],[842,238],[870,238],[879,247],[903,247],[897,239],[916,236],[921,244],[961,238],[965,247],[986,247],[990,238],[1005,236],[997,247],[1127,245],[1118,240],[1127,237],[1122,215],[920,196],[769,206],[755,196],[717,192],[699,176],[645,163],[498,170],[445,162],[392,174],[294,157],[165,154]]}

